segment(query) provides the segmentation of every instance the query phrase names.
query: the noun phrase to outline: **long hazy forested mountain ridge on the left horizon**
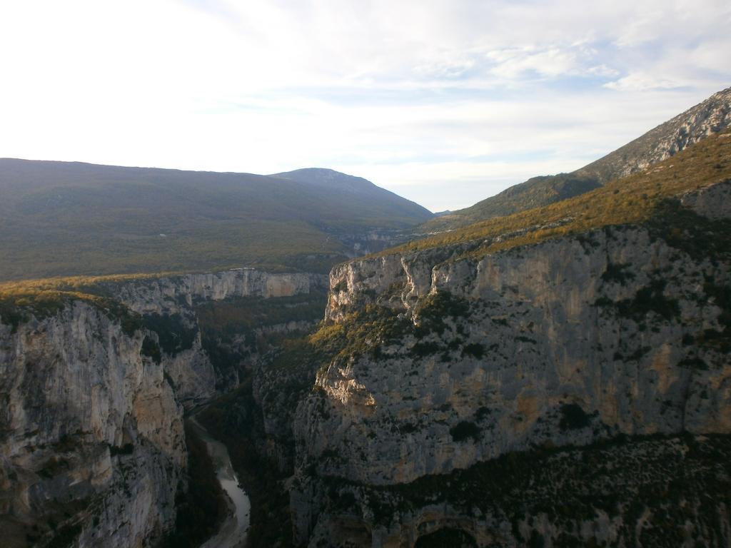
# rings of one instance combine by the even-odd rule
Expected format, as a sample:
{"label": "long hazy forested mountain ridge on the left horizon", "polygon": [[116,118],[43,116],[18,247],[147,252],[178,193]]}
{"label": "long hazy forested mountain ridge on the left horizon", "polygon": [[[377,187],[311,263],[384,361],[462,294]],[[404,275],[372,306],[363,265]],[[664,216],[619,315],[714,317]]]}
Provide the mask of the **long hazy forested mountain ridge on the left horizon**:
{"label": "long hazy forested mountain ridge on the left horizon", "polygon": [[265,176],[0,159],[0,280],[242,265],[327,271],[359,238],[431,216],[332,170]]}

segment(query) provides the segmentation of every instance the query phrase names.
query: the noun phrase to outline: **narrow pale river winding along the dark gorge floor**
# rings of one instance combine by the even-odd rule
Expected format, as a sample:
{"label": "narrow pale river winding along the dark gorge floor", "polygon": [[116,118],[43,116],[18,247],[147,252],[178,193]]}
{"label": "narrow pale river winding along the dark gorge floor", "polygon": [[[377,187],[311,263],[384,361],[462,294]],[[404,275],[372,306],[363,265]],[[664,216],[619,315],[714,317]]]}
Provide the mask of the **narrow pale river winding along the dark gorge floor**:
{"label": "narrow pale river winding along the dark gorge floor", "polygon": [[201,548],[243,548],[249,532],[249,513],[251,512],[249,495],[246,495],[246,492],[239,487],[226,446],[211,438],[205,427],[202,427],[194,416],[190,420],[208,447],[208,454],[211,455],[213,466],[216,468],[216,477],[227,495],[226,503],[229,509],[219,532],[205,541]]}

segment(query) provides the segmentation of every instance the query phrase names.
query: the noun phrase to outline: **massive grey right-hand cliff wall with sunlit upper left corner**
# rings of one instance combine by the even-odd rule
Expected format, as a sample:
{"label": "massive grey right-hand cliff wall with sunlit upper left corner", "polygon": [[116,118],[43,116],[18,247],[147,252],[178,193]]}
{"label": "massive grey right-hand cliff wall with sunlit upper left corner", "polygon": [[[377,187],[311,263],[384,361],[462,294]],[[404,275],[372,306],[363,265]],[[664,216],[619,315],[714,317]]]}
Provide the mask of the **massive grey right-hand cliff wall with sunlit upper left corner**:
{"label": "massive grey right-hand cliff wall with sunlit upper left corner", "polygon": [[[295,423],[298,539],[347,530],[376,539],[379,520],[372,508],[353,510],[365,495],[352,486],[389,490],[537,447],[731,433],[731,250],[711,241],[729,234],[730,186],[683,197],[672,222],[483,256],[459,258],[471,244],[458,244],[333,269],[330,325],[317,340],[340,338],[338,351]],[[333,481],[350,487],[333,491]],[[338,507],[333,496],[348,498],[349,510],[326,511]],[[394,525],[402,508],[384,504],[395,517],[373,545],[413,545],[420,535],[402,536],[416,527],[414,511]],[[450,522],[448,509],[424,511],[439,527]],[[453,513],[455,525],[461,514]],[[631,544],[618,535],[618,545]]]}

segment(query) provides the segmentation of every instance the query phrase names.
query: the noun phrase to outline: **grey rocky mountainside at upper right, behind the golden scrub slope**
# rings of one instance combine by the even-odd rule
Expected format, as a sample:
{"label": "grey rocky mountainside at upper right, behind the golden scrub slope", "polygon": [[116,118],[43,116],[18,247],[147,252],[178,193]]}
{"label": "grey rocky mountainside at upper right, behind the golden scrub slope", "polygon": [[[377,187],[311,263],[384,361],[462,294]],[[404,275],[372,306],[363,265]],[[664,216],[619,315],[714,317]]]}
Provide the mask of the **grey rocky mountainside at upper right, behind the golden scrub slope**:
{"label": "grey rocky mountainside at upper right, behind the golden scrub slope", "polygon": [[727,88],[579,170],[531,178],[469,208],[433,218],[419,232],[466,227],[578,196],[667,159],[730,125],[731,88]]}

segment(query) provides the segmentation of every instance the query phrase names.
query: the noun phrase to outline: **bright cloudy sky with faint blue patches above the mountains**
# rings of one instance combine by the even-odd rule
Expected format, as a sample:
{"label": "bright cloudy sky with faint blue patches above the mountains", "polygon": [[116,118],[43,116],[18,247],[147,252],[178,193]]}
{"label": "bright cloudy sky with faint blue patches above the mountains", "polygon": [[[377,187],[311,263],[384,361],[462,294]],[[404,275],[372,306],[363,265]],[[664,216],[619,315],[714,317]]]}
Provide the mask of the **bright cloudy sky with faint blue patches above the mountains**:
{"label": "bright cloudy sky with faint blue patches above the mountains", "polygon": [[0,157],[330,167],[433,211],[731,85],[728,0],[0,0]]}

